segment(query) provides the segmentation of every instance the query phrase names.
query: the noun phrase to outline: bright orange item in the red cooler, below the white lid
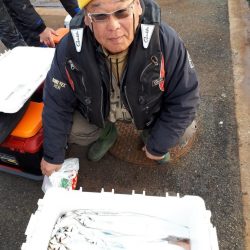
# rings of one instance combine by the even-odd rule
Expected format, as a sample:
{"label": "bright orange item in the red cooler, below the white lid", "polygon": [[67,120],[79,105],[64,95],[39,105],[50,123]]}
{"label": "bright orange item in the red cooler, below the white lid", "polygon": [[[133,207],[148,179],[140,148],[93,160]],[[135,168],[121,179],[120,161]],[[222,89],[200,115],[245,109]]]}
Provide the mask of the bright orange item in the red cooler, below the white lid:
{"label": "bright orange item in the red cooler, below the white lid", "polygon": [[42,127],[43,103],[30,102],[29,106],[11,135],[21,138],[34,136]]}

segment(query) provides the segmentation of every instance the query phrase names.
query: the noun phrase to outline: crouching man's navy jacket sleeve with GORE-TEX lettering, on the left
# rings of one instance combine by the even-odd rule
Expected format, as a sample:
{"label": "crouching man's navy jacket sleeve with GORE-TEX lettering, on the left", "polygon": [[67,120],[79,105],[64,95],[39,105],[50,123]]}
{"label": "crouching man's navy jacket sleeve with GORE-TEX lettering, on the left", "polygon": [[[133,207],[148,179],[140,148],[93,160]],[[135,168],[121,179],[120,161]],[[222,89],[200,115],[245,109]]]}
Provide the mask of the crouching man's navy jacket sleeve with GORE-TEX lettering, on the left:
{"label": "crouching man's navy jacket sleeve with GORE-TEX lettering, on the left", "polygon": [[65,37],[58,45],[44,86],[44,159],[63,163],[76,98],[65,73]]}

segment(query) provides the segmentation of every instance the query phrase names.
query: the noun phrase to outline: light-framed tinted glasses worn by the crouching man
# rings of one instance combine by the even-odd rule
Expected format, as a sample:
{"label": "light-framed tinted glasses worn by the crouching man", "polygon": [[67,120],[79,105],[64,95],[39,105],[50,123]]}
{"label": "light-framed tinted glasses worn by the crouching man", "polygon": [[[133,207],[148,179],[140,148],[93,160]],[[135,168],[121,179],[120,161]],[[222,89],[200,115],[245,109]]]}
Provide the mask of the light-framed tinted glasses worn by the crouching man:
{"label": "light-framed tinted glasses worn by the crouching man", "polygon": [[110,13],[88,13],[87,15],[91,22],[106,22],[109,19],[109,16],[114,16],[117,19],[123,19],[130,16],[133,7],[134,0],[128,5],[127,8],[115,10]]}

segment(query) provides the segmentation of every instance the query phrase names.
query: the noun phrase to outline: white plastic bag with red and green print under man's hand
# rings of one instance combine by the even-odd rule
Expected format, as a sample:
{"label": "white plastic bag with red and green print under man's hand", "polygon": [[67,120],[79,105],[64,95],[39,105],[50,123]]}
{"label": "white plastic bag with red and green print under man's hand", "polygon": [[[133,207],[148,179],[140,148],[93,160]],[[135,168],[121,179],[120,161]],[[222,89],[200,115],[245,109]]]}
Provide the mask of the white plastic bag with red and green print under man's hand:
{"label": "white plastic bag with red and green print under man's hand", "polygon": [[49,177],[44,176],[42,190],[45,193],[51,187],[61,187],[67,190],[76,188],[79,159],[69,158],[64,161],[60,170]]}

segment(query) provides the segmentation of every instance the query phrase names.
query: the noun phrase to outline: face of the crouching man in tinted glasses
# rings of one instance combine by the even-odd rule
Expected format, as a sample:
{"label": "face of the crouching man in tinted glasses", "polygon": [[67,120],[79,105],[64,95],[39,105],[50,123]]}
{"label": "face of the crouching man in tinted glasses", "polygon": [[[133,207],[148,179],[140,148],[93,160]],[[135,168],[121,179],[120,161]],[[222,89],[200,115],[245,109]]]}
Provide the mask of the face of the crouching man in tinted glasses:
{"label": "face of the crouching man in tinted glasses", "polygon": [[139,0],[92,0],[86,12],[85,23],[93,28],[96,40],[116,54],[132,43],[142,9]]}

